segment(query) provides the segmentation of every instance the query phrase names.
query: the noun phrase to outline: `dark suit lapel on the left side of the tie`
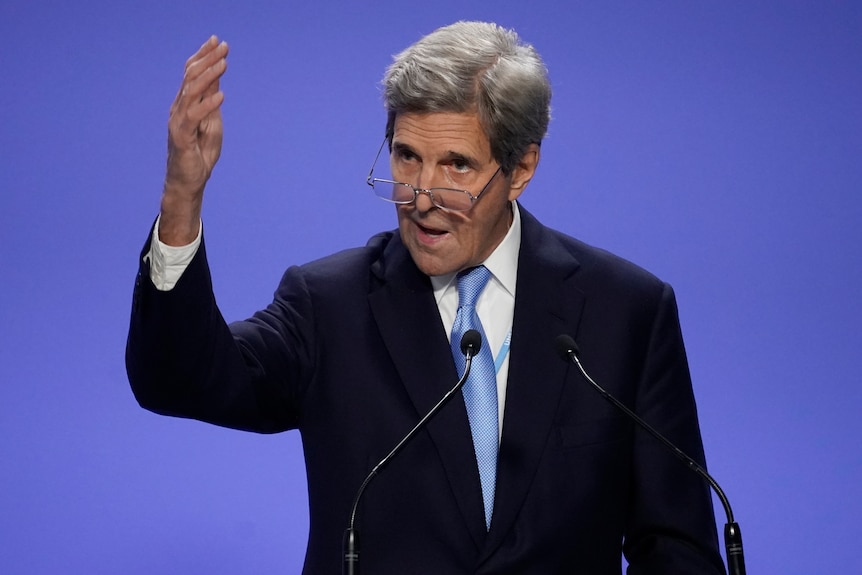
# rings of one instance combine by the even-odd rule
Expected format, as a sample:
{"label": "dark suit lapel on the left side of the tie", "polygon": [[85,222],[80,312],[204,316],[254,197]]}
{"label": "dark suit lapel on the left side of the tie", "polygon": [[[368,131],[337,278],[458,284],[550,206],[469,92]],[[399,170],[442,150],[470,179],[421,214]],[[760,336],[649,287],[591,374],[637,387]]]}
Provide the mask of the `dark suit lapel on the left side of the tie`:
{"label": "dark suit lapel on the left side of the tie", "polygon": [[[396,234],[372,266],[378,284],[369,304],[389,355],[419,417],[427,413],[458,379],[448,336],[440,321],[431,282],[413,263]],[[482,491],[467,412],[461,394],[429,422],[464,522],[477,548],[486,538]]]}

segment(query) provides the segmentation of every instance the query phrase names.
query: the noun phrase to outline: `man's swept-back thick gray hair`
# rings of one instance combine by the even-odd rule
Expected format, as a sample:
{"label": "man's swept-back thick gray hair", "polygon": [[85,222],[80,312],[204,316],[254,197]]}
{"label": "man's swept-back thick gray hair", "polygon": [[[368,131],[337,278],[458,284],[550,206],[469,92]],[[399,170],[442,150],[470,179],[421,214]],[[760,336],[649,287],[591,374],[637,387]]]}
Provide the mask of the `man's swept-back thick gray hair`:
{"label": "man's swept-back thick gray hair", "polygon": [[393,60],[383,77],[390,142],[399,113],[475,112],[494,159],[510,174],[530,144],[541,144],[548,131],[548,71],[514,30],[457,22]]}

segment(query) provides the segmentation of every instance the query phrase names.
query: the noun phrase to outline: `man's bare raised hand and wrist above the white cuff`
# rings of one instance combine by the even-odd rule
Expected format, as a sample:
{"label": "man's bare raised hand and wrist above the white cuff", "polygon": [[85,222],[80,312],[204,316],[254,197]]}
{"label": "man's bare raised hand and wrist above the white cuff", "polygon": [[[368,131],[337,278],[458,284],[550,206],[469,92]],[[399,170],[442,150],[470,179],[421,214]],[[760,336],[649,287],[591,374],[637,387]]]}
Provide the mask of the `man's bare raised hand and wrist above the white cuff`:
{"label": "man's bare raised hand and wrist above the white cuff", "polygon": [[159,239],[185,245],[197,236],[204,187],[221,154],[223,135],[219,80],[228,46],[211,36],[186,61],[180,91],[168,119],[168,165],[162,193]]}

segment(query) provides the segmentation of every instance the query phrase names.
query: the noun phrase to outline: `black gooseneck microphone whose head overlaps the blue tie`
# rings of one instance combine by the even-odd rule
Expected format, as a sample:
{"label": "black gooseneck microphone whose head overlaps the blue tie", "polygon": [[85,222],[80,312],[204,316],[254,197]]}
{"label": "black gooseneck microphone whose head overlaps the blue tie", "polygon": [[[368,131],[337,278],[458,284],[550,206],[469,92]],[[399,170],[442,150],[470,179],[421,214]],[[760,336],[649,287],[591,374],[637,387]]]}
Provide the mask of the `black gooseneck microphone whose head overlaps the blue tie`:
{"label": "black gooseneck microphone whose head overlaps the blue tie", "polygon": [[344,560],[342,563],[342,574],[343,575],[359,575],[359,530],[354,527],[354,523],[356,521],[357,510],[359,509],[359,502],[362,499],[363,493],[365,493],[365,489],[368,487],[368,484],[371,483],[371,480],[374,479],[378,473],[380,473],[384,467],[398,454],[401,449],[410,442],[411,439],[419,432],[420,429],[425,427],[427,423],[433,418],[439,411],[446,405],[452,396],[454,396],[458,391],[464,387],[464,382],[467,381],[467,377],[470,375],[470,366],[473,363],[473,358],[476,357],[476,354],[479,353],[479,349],[482,347],[482,336],[479,335],[479,332],[475,329],[467,330],[464,335],[461,337],[461,353],[467,359],[467,363],[464,366],[464,375],[461,376],[461,379],[455,384],[455,386],[446,392],[440,401],[431,408],[431,410],[425,414],[425,416],[419,420],[413,429],[407,432],[407,435],[404,436],[401,441],[389,452],[389,454],[380,460],[380,463],[374,466],[374,469],[371,470],[371,473],[365,478],[365,481],[362,482],[362,485],[359,486],[359,491],[356,492],[356,497],[353,499],[353,508],[350,511],[350,526],[344,532],[344,540],[342,541],[342,550],[344,552]]}

